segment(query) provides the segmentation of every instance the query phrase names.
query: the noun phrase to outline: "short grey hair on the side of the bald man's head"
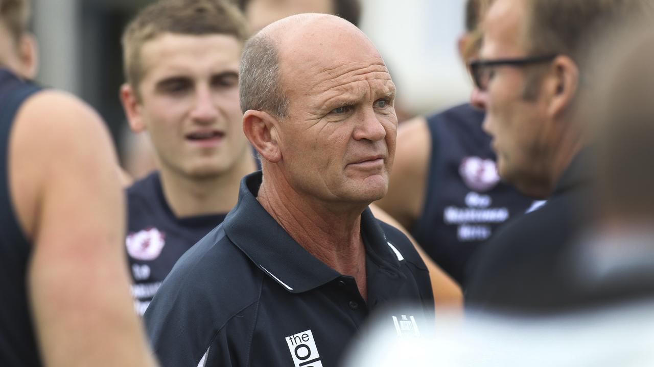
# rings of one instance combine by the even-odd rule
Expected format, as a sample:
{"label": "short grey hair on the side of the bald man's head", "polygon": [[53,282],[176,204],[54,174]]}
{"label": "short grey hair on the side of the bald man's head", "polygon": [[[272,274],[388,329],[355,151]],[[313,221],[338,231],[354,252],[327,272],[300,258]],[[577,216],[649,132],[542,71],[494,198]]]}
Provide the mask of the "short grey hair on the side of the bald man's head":
{"label": "short grey hair on the side of the bald man's head", "polygon": [[245,44],[239,74],[243,112],[258,110],[286,117],[288,97],[282,87],[279,52],[269,33],[259,32]]}

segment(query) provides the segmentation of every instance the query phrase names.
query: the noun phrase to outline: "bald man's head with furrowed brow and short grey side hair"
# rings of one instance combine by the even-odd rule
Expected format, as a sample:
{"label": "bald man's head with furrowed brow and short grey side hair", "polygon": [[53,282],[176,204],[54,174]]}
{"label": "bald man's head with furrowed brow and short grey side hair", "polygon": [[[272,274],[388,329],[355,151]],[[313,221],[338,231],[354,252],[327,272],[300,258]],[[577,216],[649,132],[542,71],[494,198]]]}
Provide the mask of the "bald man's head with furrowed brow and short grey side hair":
{"label": "bald man's head with furrowed brow and short grey side hair", "polygon": [[367,206],[386,194],[395,85],[353,24],[300,14],[265,27],[245,46],[241,98],[264,184],[339,206]]}

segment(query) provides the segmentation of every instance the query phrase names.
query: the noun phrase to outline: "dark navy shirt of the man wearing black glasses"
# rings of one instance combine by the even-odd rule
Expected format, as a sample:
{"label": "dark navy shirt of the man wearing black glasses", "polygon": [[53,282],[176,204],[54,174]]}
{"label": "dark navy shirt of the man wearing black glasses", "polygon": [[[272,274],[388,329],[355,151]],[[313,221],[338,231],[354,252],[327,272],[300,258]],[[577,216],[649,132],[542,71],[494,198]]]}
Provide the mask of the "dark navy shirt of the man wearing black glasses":
{"label": "dark navy shirt of the man wearing black glasses", "polygon": [[577,155],[547,204],[500,229],[479,251],[466,306],[547,313],[585,302],[583,297],[590,295],[574,281],[570,249],[581,240],[594,212],[588,165],[583,154]]}

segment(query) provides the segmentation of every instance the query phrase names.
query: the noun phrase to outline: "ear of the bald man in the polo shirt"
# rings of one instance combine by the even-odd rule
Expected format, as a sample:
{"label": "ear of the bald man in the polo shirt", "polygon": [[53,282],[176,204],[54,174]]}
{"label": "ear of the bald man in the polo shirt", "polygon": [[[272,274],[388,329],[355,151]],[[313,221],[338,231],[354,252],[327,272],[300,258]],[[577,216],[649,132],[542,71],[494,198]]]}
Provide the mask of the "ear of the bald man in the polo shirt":
{"label": "ear of the bald man in the polo shirt", "polygon": [[277,163],[282,159],[277,140],[279,120],[264,111],[247,110],[243,114],[243,133],[266,161]]}

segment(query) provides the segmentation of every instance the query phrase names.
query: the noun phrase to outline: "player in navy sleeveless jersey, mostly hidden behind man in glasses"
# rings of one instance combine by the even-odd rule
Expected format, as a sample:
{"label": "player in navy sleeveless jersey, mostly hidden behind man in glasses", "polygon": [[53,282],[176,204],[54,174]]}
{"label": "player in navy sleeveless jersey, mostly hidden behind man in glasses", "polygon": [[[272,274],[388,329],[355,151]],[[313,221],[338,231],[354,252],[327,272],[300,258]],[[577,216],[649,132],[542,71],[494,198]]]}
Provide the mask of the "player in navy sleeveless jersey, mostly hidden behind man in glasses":
{"label": "player in navy sleeveless jersey, mostly hidden behind man in glasses", "polygon": [[[479,52],[482,3],[466,1],[458,40],[465,61]],[[500,182],[490,136],[481,129],[483,106],[472,102],[400,124],[388,193],[377,201],[462,289],[479,246],[534,202]]]}

